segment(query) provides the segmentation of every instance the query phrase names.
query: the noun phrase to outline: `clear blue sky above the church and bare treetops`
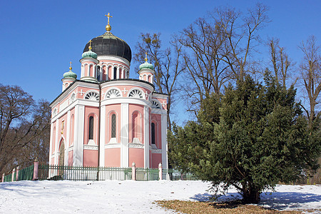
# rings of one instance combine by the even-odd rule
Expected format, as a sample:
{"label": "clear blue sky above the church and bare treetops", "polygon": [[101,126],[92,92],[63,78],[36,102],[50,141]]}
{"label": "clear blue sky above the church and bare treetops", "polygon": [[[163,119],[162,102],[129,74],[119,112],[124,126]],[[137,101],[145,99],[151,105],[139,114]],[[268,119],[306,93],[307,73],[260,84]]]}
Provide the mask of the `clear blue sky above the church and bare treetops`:
{"label": "clear blue sky above the church and bare treetops", "polygon": [[[80,78],[79,59],[86,43],[105,32],[111,13],[111,32],[135,51],[141,32],[161,32],[163,44],[215,6],[245,11],[258,1],[1,1],[0,83],[21,86],[37,100],[53,101],[61,93],[61,78],[68,71]],[[280,38],[280,45],[294,61],[302,54],[302,40],[315,35],[321,44],[320,0],[260,1],[270,8],[271,22],[262,39]],[[267,54],[262,53],[262,54]],[[138,78],[131,66],[131,78]]]}

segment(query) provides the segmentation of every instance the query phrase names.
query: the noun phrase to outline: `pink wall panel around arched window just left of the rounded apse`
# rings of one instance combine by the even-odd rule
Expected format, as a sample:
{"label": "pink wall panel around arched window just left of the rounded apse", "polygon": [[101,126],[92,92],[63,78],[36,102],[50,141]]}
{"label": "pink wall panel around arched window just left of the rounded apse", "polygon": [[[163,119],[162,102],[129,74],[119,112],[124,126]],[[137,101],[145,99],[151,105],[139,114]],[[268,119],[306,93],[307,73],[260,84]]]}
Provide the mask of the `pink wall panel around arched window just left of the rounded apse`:
{"label": "pink wall panel around arched window just left of the rounded apse", "polygon": [[88,144],[88,131],[89,131],[89,117],[93,116],[93,141],[98,143],[98,114],[99,114],[99,108],[98,107],[92,107],[92,106],[85,106],[85,126],[84,133],[83,133],[83,144]]}

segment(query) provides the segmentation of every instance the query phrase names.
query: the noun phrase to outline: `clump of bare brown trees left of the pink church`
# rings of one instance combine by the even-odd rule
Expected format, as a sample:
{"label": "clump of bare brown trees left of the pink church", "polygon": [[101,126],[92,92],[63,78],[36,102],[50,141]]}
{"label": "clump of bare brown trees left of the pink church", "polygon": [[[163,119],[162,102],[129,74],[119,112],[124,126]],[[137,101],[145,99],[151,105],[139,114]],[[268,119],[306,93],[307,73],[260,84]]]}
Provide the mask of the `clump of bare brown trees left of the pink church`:
{"label": "clump of bare brown trees left of the pink church", "polygon": [[[50,116],[47,101],[37,105],[19,86],[0,85],[0,173],[27,164],[37,145],[49,147],[49,138],[41,136],[50,133]],[[42,152],[37,151],[36,156]]]}

